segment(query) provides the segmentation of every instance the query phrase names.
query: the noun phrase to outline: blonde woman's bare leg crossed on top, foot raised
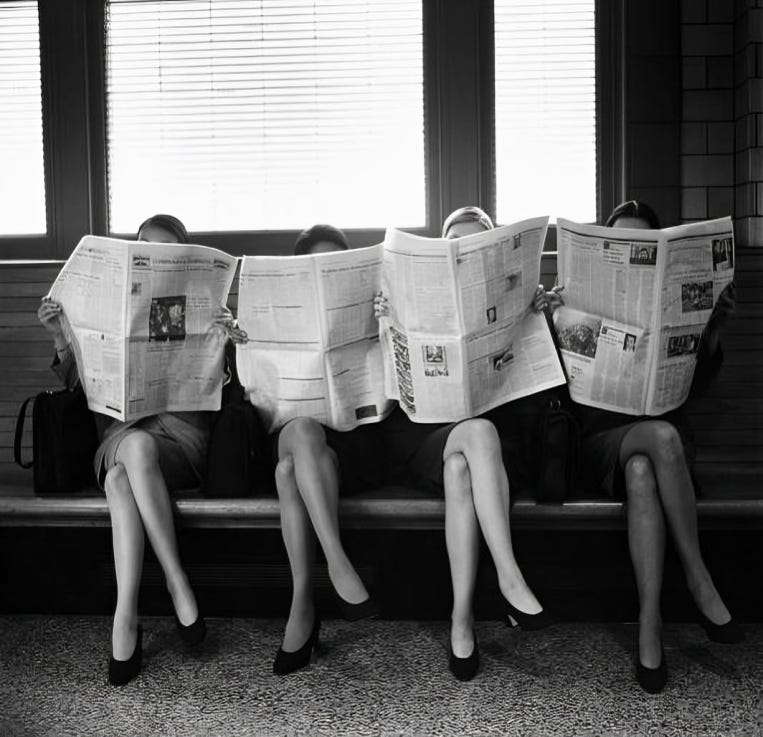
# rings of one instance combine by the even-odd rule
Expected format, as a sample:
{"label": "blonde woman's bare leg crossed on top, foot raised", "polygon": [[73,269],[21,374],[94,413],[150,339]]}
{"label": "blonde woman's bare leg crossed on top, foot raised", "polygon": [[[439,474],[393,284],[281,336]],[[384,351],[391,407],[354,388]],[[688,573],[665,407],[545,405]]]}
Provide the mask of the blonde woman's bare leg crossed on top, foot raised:
{"label": "blonde woman's bare leg crossed on top, foot raised", "polygon": [[482,419],[456,425],[443,455],[447,458],[451,453],[461,453],[469,466],[474,510],[495,563],[501,593],[520,611],[537,614],[542,607],[525,582],[511,545],[509,480],[495,427]]}

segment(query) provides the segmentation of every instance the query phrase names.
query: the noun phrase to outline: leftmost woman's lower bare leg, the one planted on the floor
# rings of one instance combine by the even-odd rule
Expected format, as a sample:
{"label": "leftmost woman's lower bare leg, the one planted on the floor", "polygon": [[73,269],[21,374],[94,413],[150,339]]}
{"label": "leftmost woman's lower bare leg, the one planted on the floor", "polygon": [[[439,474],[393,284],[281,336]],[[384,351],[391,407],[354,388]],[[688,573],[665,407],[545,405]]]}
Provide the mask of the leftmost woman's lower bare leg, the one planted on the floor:
{"label": "leftmost woman's lower bare leg, the one planted on the floor", "polygon": [[138,594],[143,573],[145,535],[130,481],[121,463],[106,474],[105,486],[117,577],[117,607],[111,649],[117,660],[127,660],[135,651],[138,636]]}

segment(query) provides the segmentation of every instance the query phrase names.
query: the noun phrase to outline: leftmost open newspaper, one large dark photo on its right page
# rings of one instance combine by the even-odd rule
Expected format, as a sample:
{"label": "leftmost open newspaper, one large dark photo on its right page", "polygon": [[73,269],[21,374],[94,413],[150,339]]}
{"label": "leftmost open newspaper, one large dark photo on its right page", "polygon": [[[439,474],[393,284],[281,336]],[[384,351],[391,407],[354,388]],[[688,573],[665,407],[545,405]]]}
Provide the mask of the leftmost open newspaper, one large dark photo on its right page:
{"label": "leftmost open newspaper, one large dark photo on its right page", "polygon": [[219,409],[226,338],[212,322],[235,271],[206,246],[85,236],[50,297],[90,409],[122,421]]}

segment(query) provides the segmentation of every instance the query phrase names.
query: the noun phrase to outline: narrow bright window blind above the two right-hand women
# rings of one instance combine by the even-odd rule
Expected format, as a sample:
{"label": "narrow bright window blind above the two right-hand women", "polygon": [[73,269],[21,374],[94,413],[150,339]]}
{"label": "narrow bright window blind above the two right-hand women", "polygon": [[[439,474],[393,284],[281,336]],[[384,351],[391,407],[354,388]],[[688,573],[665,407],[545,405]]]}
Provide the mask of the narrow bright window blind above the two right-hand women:
{"label": "narrow bright window blind above the two right-hand women", "polygon": [[495,0],[496,216],[596,219],[593,0]]}

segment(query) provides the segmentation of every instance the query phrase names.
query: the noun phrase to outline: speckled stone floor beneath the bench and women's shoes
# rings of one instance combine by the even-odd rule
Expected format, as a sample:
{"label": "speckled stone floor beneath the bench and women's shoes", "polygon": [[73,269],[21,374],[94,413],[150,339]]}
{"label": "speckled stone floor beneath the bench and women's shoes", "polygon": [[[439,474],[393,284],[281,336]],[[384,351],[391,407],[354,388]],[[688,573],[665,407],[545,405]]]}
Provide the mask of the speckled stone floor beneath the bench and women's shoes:
{"label": "speckled stone floor beneath the bench and women's shoes", "polygon": [[146,618],[141,675],[106,680],[106,617],[0,617],[0,735],[760,735],[763,625],[741,645],[667,625],[670,680],[633,678],[635,626],[479,622],[482,667],[447,670],[445,622],[328,621],[311,666],[272,675],[283,621],[212,619],[198,653]]}

